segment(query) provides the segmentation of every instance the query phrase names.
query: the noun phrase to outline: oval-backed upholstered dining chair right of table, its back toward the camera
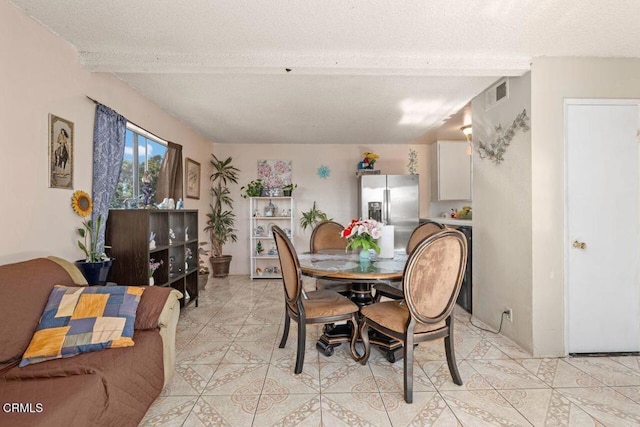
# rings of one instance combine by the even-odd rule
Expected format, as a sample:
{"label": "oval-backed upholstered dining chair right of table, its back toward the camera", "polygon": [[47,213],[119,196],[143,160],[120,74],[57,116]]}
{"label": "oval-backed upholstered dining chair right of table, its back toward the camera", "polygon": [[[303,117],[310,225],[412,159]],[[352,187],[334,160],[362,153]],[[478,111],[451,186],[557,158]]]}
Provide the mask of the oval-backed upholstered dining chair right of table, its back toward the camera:
{"label": "oval-backed upholstered dining chair right of table, its back toward the camera", "polygon": [[404,299],[377,302],[361,309],[360,336],[365,364],[370,354],[369,329],[404,345],[404,400],[413,401],[414,345],[444,337],[453,382],[462,385],[453,344],[453,308],[467,264],[467,240],[458,230],[443,230],[423,240],[404,270]]}

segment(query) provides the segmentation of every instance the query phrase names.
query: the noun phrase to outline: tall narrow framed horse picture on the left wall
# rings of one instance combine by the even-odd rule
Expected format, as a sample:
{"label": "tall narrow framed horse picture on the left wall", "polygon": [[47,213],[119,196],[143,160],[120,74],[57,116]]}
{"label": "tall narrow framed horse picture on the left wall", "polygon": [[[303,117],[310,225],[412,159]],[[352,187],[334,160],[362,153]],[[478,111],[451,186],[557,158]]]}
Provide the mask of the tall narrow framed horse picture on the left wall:
{"label": "tall narrow framed horse picture on the left wall", "polygon": [[49,114],[49,187],[73,190],[73,123]]}

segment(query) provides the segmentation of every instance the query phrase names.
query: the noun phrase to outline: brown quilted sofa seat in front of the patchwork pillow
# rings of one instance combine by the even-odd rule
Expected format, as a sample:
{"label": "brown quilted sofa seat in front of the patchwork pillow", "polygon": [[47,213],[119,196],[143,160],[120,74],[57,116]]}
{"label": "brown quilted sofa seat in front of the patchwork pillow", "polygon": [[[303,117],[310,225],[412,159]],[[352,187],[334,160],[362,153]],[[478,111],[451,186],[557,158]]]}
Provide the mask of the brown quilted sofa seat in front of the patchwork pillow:
{"label": "brown quilted sofa seat in front of the patchwork pillow", "polygon": [[11,426],[137,426],[162,390],[162,340],[136,331],[133,347],[49,360],[0,375],[0,402],[39,402],[41,413],[2,414]]}

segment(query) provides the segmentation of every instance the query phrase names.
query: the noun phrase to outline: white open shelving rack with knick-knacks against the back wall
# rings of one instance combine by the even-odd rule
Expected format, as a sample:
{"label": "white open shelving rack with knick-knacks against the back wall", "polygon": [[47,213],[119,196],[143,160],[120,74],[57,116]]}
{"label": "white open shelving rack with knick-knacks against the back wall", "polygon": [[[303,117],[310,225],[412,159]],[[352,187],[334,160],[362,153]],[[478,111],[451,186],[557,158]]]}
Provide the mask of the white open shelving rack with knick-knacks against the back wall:
{"label": "white open shelving rack with knick-knacks against the back wall", "polygon": [[[282,228],[291,241],[294,233],[293,197],[249,198],[249,252],[251,279],[282,278],[271,227]],[[262,252],[258,252],[259,244]]]}

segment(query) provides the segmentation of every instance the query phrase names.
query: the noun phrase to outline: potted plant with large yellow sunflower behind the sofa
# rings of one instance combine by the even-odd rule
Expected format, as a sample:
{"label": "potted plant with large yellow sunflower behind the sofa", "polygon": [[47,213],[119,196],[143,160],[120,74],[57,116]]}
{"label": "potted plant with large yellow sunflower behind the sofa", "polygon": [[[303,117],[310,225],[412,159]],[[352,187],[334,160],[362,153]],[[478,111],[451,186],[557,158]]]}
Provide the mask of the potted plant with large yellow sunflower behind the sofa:
{"label": "potted plant with large yellow sunflower behind the sofa", "polygon": [[85,258],[76,261],[75,264],[90,285],[105,285],[113,260],[98,249],[98,232],[102,225],[102,215],[98,215],[94,223],[90,218],[93,211],[91,196],[82,190],[74,192],[71,196],[71,207],[83,218],[82,227],[76,230],[82,238],[78,240],[78,247],[84,252]]}

